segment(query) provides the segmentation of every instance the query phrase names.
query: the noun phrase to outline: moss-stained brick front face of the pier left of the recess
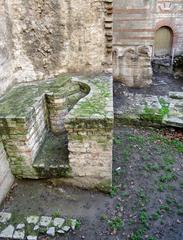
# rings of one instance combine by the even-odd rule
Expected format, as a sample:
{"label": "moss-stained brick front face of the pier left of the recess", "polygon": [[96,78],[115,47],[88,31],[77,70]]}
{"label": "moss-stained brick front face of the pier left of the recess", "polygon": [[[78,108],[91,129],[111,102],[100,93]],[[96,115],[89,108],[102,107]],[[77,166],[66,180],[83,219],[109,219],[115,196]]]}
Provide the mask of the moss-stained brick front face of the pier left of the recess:
{"label": "moss-stained brick front face of the pier left of the recess", "polygon": [[28,136],[30,133],[28,133],[26,118],[7,117],[1,119],[0,123],[2,142],[6,148],[13,175],[36,178],[37,173],[32,168],[32,156],[35,154],[37,146],[35,138],[32,138],[30,142],[31,136]]}

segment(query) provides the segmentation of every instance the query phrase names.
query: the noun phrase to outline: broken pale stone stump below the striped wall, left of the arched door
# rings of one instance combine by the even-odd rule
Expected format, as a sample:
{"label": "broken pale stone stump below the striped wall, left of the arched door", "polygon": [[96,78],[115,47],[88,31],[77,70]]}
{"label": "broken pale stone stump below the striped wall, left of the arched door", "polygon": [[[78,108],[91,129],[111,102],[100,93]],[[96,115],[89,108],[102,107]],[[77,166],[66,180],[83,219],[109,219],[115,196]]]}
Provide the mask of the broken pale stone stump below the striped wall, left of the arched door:
{"label": "broken pale stone stump below the striped wall, left of the arched door", "polygon": [[118,47],[113,53],[113,77],[128,87],[145,87],[152,83],[152,48]]}

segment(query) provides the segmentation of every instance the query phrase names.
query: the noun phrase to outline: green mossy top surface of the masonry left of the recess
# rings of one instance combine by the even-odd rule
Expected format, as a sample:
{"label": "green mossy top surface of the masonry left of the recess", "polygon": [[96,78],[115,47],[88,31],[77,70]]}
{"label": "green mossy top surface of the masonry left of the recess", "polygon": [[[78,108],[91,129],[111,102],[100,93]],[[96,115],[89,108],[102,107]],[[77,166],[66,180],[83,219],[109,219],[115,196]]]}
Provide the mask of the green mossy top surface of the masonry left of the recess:
{"label": "green mossy top surface of the masonry left of the recess", "polygon": [[68,76],[59,76],[53,81],[44,81],[31,85],[18,85],[0,100],[0,116],[25,117],[30,112],[37,98],[44,93],[59,97],[72,95],[80,91],[78,83],[73,83]]}

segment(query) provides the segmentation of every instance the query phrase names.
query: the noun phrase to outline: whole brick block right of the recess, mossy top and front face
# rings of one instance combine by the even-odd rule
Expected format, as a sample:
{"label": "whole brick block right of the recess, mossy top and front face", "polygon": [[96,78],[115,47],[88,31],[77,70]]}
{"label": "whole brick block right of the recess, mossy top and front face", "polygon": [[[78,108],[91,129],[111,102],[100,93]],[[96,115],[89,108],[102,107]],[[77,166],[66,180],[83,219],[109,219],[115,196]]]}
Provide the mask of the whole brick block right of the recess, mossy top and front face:
{"label": "whole brick block right of the recess, mossy top and front face", "polygon": [[72,177],[81,186],[110,189],[112,184],[112,80],[88,81],[90,94],[66,118]]}

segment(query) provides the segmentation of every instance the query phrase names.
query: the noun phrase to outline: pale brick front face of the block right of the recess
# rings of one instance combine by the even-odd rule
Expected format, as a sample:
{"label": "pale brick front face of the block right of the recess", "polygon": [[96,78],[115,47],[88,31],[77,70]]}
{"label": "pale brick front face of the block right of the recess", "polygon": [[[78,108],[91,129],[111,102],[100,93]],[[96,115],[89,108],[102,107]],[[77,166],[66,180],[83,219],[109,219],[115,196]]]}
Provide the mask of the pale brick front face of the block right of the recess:
{"label": "pale brick front face of the block right of the recess", "polygon": [[[75,125],[75,126],[74,126]],[[112,124],[104,127],[97,120],[67,125],[69,165],[75,183],[84,188],[108,192],[112,185]]]}

